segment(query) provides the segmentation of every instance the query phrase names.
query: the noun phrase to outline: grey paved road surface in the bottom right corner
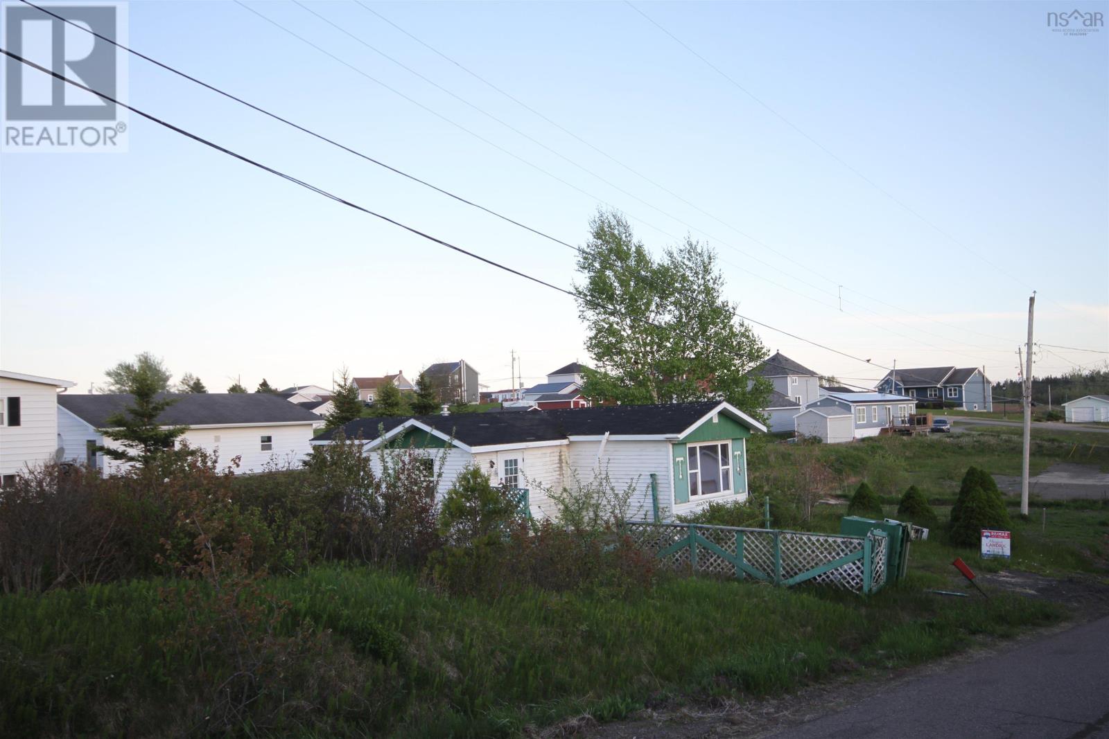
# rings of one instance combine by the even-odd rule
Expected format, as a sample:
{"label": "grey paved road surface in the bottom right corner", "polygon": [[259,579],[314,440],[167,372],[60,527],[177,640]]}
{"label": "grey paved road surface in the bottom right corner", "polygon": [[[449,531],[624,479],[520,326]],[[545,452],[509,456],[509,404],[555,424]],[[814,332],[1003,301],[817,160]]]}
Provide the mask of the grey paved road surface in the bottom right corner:
{"label": "grey paved road surface in the bottom right corner", "polygon": [[773,736],[1109,739],[1109,617],[904,682]]}

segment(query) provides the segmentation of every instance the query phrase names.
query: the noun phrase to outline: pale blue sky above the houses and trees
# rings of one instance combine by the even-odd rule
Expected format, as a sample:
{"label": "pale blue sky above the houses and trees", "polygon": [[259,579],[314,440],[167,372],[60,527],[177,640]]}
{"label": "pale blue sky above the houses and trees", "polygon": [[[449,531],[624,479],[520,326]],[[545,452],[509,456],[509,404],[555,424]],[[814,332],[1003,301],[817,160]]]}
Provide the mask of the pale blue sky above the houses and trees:
{"label": "pale blue sky above the houses and trees", "polygon": [[[1032,290],[1035,340],[1055,345],[1035,374],[1109,359],[1109,29],[1051,32],[1071,4],[244,4],[130,2],[130,45],[563,242],[614,207],[655,254],[708,243],[767,350],[822,374],[1015,377]],[[140,59],[125,99],[488,259],[578,277],[566,246]],[[222,391],[466,359],[500,389],[512,351],[525,384],[591,361],[563,294],[134,114],[128,133],[126,153],[0,154],[4,369],[88,391],[151,351]]]}

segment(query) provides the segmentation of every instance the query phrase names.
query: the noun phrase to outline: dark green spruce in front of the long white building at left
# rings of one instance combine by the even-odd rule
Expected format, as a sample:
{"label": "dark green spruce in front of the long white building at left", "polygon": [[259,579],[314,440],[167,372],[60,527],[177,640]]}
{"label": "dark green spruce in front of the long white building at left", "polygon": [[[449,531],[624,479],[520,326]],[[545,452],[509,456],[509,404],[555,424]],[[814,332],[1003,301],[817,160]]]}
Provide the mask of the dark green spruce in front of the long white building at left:
{"label": "dark green spruce in front of the long white building at left", "polygon": [[[143,355],[139,357],[142,358]],[[170,373],[161,361],[136,361],[125,372],[113,377],[113,370],[124,365],[126,362],[120,362],[105,372],[109,379],[116,383],[114,387],[132,396],[130,406],[106,419],[109,430],[104,435],[119,445],[98,447],[98,451],[113,460],[146,465],[157,455],[172,450],[174,441],[187,430],[187,427],[163,428],[159,420],[162,412],[176,402],[175,398],[165,393]]]}

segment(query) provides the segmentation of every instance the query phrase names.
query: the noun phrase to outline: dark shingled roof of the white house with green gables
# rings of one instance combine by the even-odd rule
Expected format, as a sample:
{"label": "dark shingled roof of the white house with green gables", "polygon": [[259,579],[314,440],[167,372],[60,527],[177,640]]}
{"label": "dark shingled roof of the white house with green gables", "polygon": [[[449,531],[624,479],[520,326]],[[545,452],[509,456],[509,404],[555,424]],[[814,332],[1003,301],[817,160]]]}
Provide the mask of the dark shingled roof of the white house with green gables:
{"label": "dark shingled roof of the white house with green gables", "polygon": [[[567,398],[569,399],[569,398]],[[668,403],[659,406],[604,406],[599,408],[531,411],[528,413],[457,413],[454,415],[401,415],[350,421],[343,431],[347,439],[376,439],[378,428],[386,433],[409,418],[452,435],[468,447],[553,441],[567,437],[681,433],[720,402]],[[335,430],[314,441],[330,441]]]}

